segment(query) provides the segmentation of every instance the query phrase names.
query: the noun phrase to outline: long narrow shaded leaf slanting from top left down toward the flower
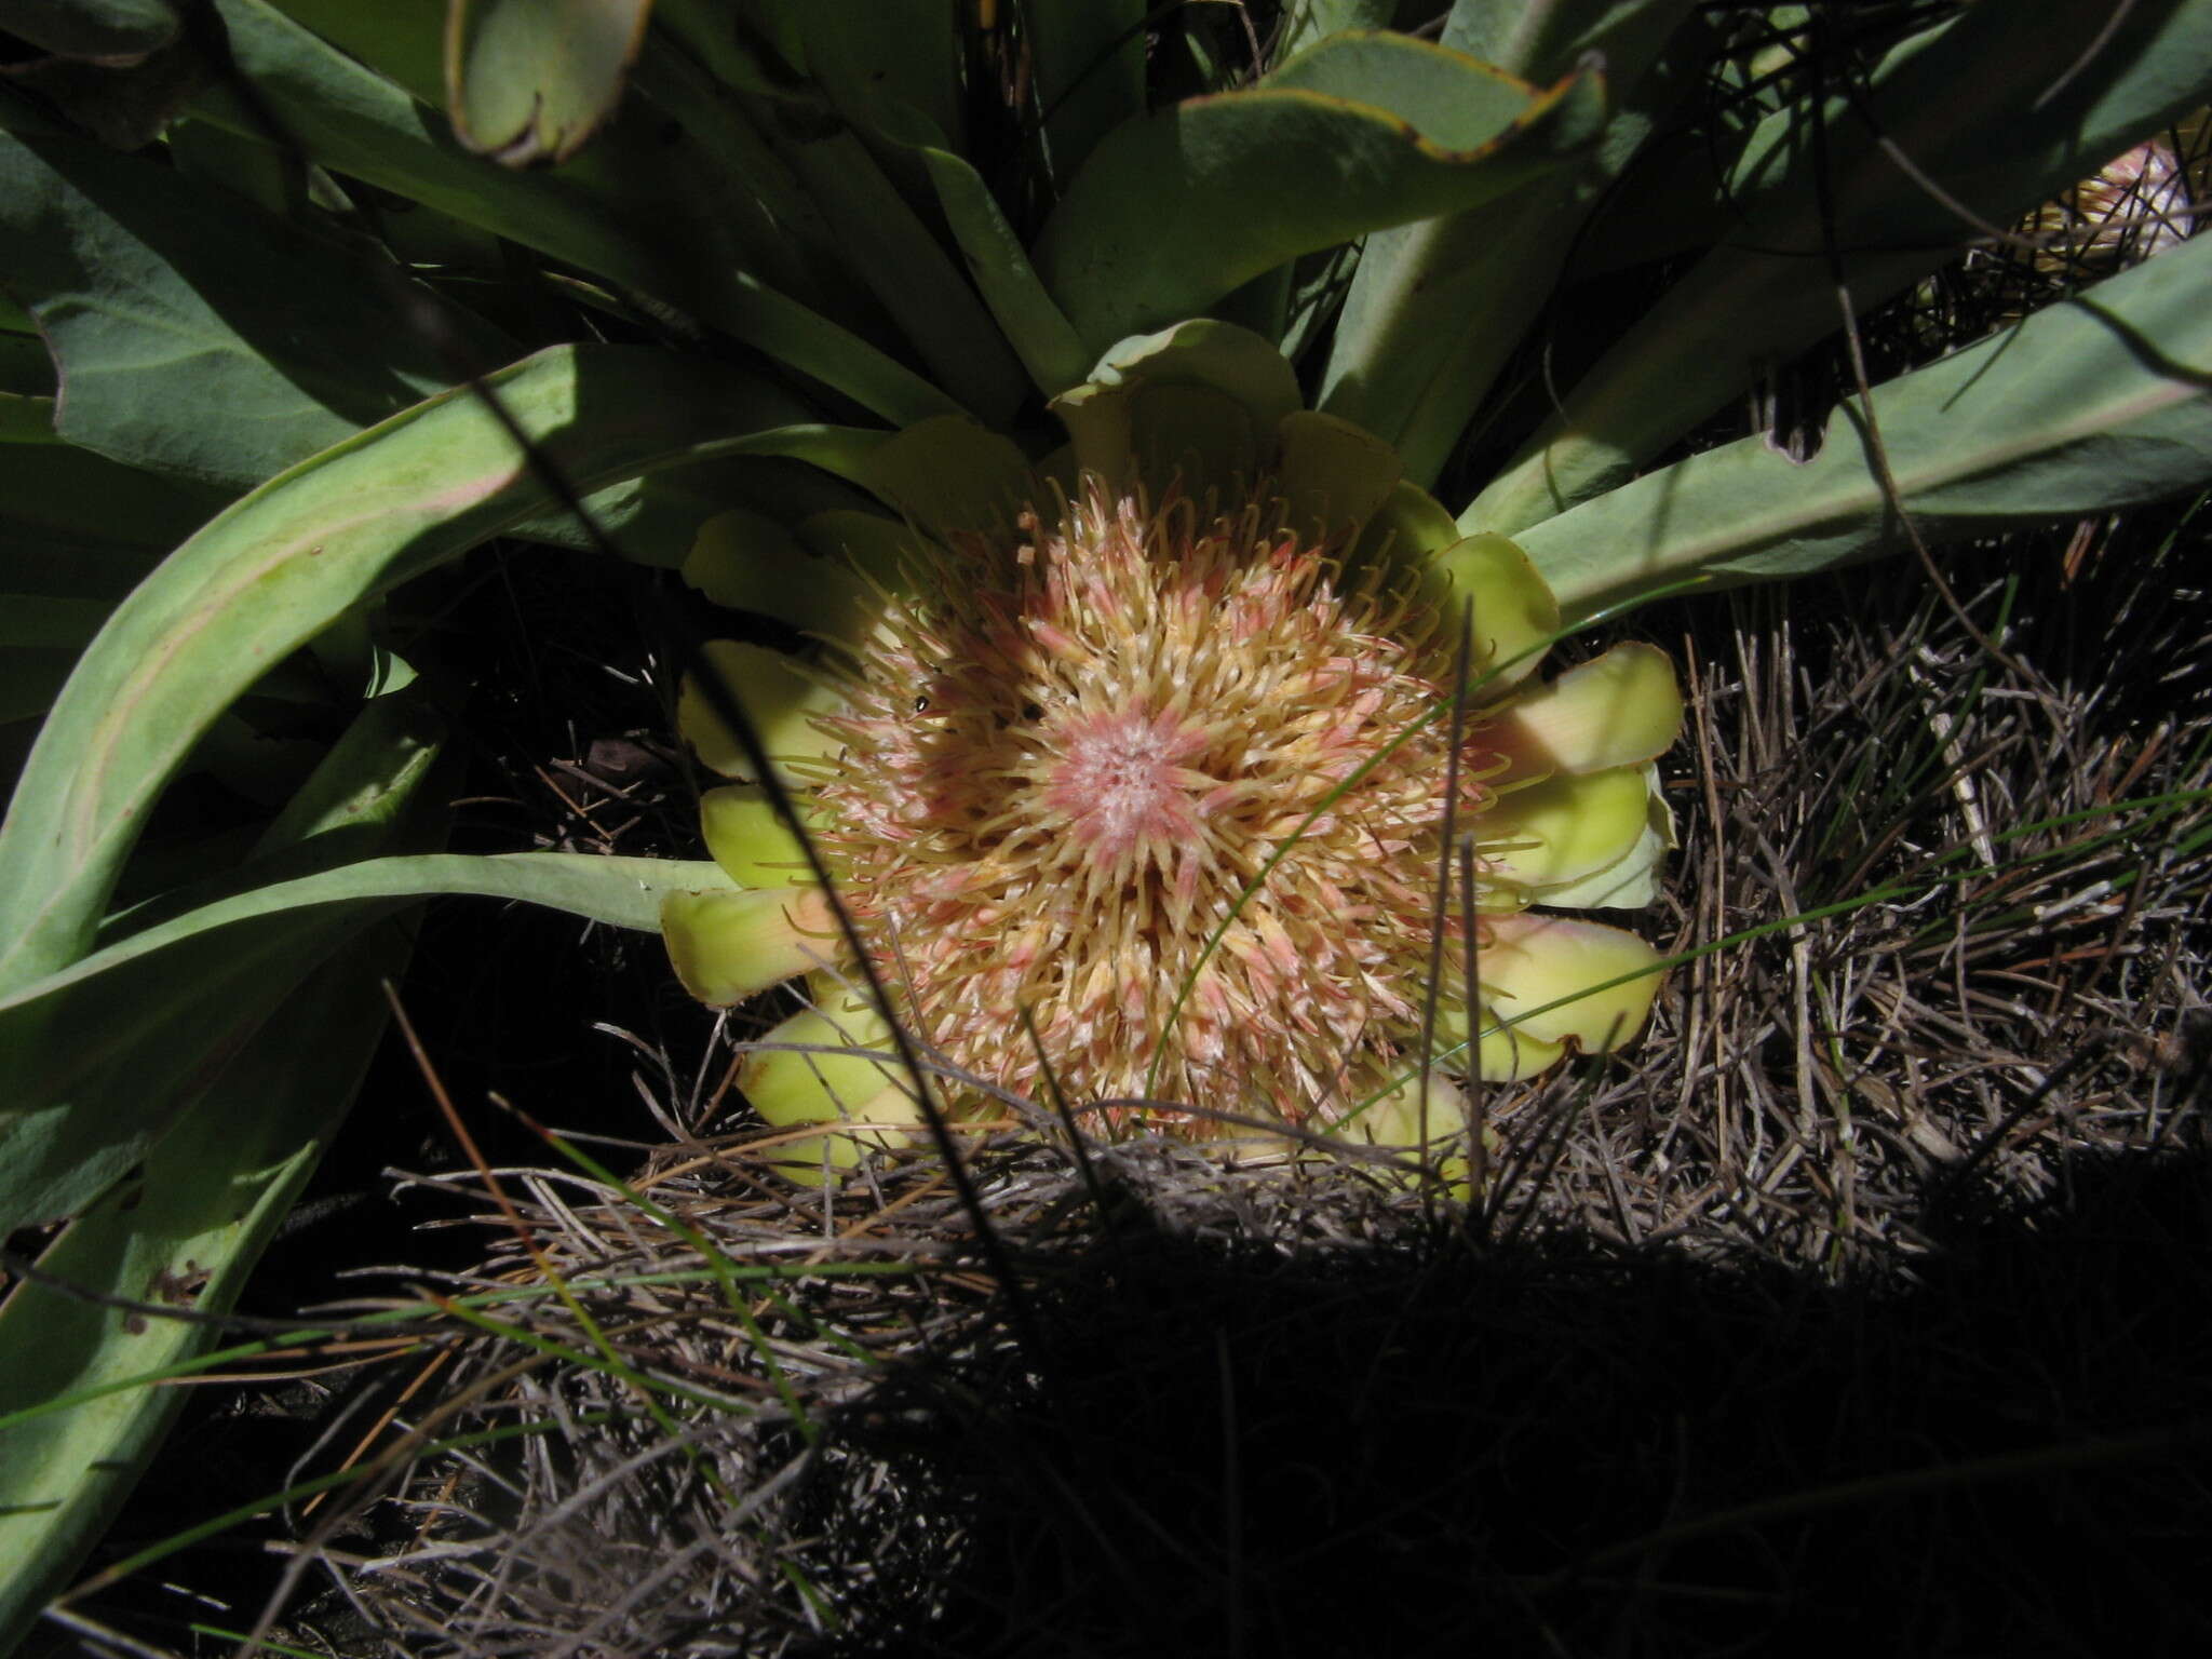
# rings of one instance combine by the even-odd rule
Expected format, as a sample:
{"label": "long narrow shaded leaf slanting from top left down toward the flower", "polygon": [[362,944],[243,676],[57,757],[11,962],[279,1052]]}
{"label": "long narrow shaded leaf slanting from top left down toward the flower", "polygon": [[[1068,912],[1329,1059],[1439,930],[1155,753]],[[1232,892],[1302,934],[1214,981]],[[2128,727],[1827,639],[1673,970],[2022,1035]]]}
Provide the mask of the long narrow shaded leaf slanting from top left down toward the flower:
{"label": "long narrow shaded leaf slanting from top left down toward the flower", "polygon": [[[323,166],[686,307],[891,425],[958,409],[945,389],[852,330],[714,259],[712,248],[692,250],[690,237],[668,234],[666,215],[657,221],[650,201],[633,199],[635,188],[617,188],[635,186],[633,175],[641,166],[615,181],[580,175],[577,168],[591,164],[604,144],[555,170],[487,166],[460,148],[442,115],[268,0],[217,0],[217,9],[239,71]],[[369,15],[363,9],[354,13]],[[345,9],[341,15],[347,15]],[[232,133],[261,137],[257,122],[226,91],[204,93],[192,113]]]}

